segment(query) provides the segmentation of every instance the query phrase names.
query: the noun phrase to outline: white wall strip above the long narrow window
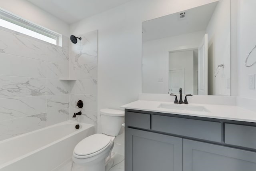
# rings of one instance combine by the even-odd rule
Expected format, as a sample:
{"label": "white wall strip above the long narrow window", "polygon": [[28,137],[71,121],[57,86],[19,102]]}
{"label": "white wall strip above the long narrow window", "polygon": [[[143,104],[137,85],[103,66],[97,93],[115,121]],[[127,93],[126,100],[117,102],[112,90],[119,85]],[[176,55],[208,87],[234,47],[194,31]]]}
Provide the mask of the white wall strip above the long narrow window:
{"label": "white wall strip above the long narrow window", "polygon": [[0,8],[69,37],[68,24],[26,0],[0,0],[0,4]]}

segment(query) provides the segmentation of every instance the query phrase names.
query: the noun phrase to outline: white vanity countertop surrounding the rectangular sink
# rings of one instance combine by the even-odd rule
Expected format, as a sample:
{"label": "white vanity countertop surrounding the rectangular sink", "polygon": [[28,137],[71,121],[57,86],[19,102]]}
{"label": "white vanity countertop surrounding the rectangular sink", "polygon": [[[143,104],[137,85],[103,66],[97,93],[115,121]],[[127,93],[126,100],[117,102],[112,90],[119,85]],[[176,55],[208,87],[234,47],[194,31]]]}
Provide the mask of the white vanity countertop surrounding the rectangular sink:
{"label": "white vanity countertop surrounding the rectangular sink", "polygon": [[244,109],[242,107],[234,105],[212,105],[212,104],[198,104],[190,103],[189,106],[203,106],[209,112],[206,111],[190,111],[181,109],[166,109],[160,108],[160,104],[173,104],[173,105],[185,105],[185,104],[174,104],[173,102],[166,101],[148,101],[148,100],[138,100],[121,107],[124,109],[134,109],[142,111],[154,111],[161,113],[172,113],[178,115],[188,115],[197,117],[208,117],[216,119],[227,119],[234,121],[246,121],[256,123],[256,112]]}

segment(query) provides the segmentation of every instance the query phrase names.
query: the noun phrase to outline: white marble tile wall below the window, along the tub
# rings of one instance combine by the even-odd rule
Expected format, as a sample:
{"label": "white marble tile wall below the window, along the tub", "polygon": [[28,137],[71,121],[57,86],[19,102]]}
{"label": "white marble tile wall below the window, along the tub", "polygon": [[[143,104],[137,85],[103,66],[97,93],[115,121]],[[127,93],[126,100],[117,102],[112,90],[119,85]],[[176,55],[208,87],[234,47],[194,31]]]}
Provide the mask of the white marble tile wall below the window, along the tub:
{"label": "white marble tile wall below the window, along the tub", "polygon": [[69,77],[69,38],[62,44],[0,30],[0,141],[69,119],[70,82],[58,80]]}

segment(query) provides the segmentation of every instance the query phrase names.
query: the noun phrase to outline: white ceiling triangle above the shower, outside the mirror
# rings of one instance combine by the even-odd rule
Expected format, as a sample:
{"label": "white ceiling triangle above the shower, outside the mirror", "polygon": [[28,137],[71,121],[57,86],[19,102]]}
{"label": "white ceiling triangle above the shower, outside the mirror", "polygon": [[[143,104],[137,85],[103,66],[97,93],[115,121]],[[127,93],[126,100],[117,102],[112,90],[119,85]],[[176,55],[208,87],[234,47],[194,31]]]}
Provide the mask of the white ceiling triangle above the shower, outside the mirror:
{"label": "white ceiling triangle above the shower, outside the mirror", "polygon": [[28,0],[67,24],[115,8],[131,0]]}

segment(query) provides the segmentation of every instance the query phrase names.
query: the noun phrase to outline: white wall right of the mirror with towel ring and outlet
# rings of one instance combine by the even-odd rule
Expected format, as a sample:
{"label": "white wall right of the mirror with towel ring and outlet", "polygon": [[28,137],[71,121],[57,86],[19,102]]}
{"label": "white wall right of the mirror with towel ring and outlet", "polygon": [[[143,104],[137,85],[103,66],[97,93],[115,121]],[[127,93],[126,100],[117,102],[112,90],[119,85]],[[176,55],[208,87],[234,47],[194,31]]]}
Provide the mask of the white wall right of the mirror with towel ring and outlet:
{"label": "white wall right of the mirror with towel ring and outlet", "polygon": [[[256,45],[256,1],[238,0],[238,96],[256,99],[256,90],[249,89],[249,74],[256,74],[256,65],[247,68],[245,59]],[[256,53],[250,57],[250,64],[256,61]]]}

